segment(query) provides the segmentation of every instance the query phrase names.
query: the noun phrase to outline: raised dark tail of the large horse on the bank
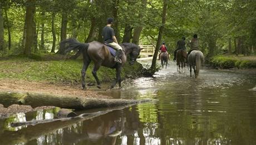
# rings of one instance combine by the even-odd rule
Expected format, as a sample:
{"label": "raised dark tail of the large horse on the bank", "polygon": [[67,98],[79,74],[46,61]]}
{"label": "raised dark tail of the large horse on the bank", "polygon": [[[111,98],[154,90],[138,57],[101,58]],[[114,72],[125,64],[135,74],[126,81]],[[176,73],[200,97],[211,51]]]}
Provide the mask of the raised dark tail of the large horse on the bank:
{"label": "raised dark tail of the large horse on the bank", "polygon": [[80,43],[75,38],[68,38],[60,43],[60,48],[66,48],[65,54],[75,49],[78,49],[78,51],[83,51],[84,49],[87,49],[88,46],[88,43]]}

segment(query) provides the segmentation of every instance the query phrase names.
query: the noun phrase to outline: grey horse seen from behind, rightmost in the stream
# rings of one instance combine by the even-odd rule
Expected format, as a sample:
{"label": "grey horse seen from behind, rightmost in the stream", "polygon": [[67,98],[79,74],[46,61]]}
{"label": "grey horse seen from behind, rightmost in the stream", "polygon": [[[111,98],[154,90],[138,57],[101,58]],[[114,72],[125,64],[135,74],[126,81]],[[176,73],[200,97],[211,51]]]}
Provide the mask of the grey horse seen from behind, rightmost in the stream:
{"label": "grey horse seen from behind, rightmost in the stream", "polygon": [[192,77],[192,67],[194,70],[195,78],[199,76],[201,64],[204,63],[204,54],[201,51],[192,51],[188,56],[188,64],[190,68],[190,77]]}

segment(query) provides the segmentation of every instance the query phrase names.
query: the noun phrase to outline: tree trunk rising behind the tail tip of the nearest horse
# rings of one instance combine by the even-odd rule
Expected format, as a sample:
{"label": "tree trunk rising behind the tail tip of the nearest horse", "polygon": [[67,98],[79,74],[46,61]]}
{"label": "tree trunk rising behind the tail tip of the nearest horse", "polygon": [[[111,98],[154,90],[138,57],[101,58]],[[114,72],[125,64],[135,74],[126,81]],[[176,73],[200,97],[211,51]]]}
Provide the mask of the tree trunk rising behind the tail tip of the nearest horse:
{"label": "tree trunk rising behind the tail tip of the nearest horse", "polygon": [[[64,10],[63,10],[64,11]],[[62,19],[61,19],[61,41],[67,38],[67,12],[62,12]],[[65,54],[65,48],[59,49],[59,54]]]}

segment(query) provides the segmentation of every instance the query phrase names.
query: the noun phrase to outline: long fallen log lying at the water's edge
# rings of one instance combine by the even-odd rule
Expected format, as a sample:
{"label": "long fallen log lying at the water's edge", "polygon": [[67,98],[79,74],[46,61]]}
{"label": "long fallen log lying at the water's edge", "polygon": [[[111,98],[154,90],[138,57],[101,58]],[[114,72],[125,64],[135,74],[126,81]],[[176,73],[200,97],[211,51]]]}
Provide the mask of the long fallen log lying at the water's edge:
{"label": "long fallen log lying at the water's edge", "polygon": [[125,106],[127,104],[136,104],[148,101],[150,101],[150,99],[101,99],[38,93],[0,92],[0,103],[2,103],[4,107],[8,107],[11,104],[24,104],[30,105],[33,108],[39,106],[56,106],[68,109],[91,109]]}

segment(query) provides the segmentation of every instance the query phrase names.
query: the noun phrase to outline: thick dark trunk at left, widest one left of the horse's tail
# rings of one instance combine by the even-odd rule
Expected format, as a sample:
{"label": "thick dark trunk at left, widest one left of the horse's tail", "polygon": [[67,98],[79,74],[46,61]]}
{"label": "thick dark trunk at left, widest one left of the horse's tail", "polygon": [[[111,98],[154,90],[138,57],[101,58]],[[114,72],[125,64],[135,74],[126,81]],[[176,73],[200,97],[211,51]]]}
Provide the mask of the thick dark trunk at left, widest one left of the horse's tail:
{"label": "thick dark trunk at left, widest one left of the horse's tail", "polygon": [[33,17],[36,9],[35,2],[36,0],[27,1],[26,19],[25,19],[26,42],[25,42],[24,54],[31,54],[31,47],[33,45]]}

